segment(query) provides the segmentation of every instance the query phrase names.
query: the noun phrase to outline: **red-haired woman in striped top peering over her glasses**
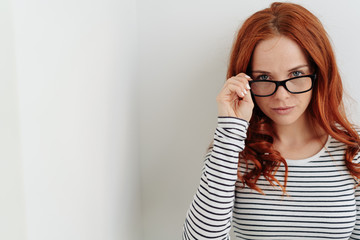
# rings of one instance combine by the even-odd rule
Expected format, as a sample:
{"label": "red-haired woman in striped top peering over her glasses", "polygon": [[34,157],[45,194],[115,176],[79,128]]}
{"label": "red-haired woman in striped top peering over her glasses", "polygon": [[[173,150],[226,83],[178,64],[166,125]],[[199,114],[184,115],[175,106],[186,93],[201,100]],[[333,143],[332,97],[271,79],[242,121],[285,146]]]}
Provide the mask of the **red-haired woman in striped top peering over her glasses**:
{"label": "red-haired woman in striped top peering over her glasses", "polygon": [[326,32],[273,3],[245,21],[183,239],[360,239],[359,135]]}

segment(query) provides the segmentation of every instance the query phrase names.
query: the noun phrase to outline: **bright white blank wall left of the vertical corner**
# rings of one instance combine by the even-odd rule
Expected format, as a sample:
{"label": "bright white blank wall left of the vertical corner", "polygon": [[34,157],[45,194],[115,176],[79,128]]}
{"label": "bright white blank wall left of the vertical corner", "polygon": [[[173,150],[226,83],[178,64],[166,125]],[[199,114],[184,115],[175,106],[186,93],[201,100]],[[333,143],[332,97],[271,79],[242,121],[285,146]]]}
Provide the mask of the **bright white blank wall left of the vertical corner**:
{"label": "bright white blank wall left of the vertical corner", "polygon": [[6,3],[0,239],[138,239],[136,2]]}

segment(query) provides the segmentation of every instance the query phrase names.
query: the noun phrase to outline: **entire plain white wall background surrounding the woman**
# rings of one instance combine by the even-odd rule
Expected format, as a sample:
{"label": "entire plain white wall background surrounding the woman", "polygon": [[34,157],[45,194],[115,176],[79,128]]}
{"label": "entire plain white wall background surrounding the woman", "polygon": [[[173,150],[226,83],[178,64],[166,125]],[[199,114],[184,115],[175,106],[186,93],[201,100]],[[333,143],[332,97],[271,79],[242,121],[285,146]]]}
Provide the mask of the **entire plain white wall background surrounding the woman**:
{"label": "entire plain white wall background surrounding the woman", "polygon": [[[270,3],[2,0],[0,239],[180,239],[235,32]],[[301,4],[359,123],[360,2]]]}

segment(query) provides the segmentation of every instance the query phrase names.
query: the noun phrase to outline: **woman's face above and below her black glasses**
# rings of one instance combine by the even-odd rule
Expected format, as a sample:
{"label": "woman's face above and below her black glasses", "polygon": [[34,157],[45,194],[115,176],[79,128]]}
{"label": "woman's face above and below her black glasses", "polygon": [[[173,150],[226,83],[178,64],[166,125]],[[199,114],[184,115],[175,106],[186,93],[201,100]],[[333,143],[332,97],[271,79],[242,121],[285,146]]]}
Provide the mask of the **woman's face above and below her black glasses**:
{"label": "woman's face above and below her black glasses", "polygon": [[[259,42],[253,53],[253,80],[285,80],[313,74],[300,46],[290,38],[276,36]],[[305,111],[310,103],[312,90],[292,94],[279,86],[269,97],[255,97],[264,114],[275,124],[292,125],[306,119]]]}

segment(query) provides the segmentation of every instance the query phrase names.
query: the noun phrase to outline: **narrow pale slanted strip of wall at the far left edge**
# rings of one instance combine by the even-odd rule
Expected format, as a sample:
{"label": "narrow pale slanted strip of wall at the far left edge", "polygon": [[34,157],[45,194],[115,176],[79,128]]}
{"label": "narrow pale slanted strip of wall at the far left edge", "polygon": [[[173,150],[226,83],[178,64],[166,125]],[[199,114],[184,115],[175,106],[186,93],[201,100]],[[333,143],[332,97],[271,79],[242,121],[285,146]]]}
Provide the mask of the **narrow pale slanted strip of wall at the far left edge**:
{"label": "narrow pale slanted strip of wall at the far left edge", "polygon": [[26,236],[11,0],[0,1],[0,239]]}

